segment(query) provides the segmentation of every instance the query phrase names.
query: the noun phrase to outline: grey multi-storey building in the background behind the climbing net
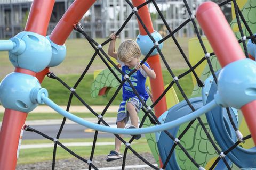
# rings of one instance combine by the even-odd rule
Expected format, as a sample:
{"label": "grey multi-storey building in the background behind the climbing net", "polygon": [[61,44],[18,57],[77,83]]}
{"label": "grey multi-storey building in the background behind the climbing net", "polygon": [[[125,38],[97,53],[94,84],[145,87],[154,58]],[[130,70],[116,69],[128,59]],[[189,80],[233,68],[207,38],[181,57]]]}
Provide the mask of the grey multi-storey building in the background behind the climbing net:
{"label": "grey multi-storey building in the background behind the climbing net", "polygon": [[[48,34],[52,32],[55,25],[73,1],[55,0]],[[191,10],[194,11],[193,13],[195,13],[197,5],[202,1],[188,1]],[[13,37],[23,30],[32,2],[33,0],[0,0],[0,39]],[[189,17],[182,0],[158,0],[156,2],[172,30],[177,28],[178,25]],[[167,33],[166,27],[151,3],[149,4],[149,10],[154,29],[165,36]],[[130,6],[124,0],[97,0],[83,16],[81,23],[86,33],[92,38],[105,38],[111,32],[117,31],[131,12]],[[124,28],[121,37],[134,38],[138,33],[138,23],[135,16],[133,16]],[[193,27],[187,24],[177,32],[177,35],[180,37],[194,36]],[[71,33],[70,38],[79,38],[79,36],[79,33],[74,31]]]}

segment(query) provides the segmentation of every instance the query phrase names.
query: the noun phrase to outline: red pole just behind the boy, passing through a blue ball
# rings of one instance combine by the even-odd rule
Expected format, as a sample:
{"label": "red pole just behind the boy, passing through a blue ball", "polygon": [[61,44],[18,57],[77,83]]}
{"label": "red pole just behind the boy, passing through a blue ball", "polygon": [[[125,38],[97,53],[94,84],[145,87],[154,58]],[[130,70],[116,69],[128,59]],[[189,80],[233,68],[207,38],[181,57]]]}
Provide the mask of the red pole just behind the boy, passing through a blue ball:
{"label": "red pole just behind the boy, passing through a blue ball", "polygon": [[[142,3],[145,3],[145,0],[132,0],[132,3],[134,6],[139,6]],[[143,6],[139,9],[138,14],[140,18],[142,19],[143,23],[146,25],[147,29],[150,33],[154,32],[153,24],[151,21],[150,13],[148,10],[148,6]],[[147,35],[147,32],[144,30],[142,25],[139,23],[139,30],[140,35]],[[153,95],[153,101],[156,101],[156,99],[163,93],[164,91],[164,80],[162,75],[162,69],[161,64],[159,60],[159,55],[154,55],[148,58],[147,60],[148,64],[152,69],[154,69],[156,73],[156,79],[150,79],[151,89],[152,89],[152,95]],[[165,96],[158,102],[158,104],[155,106],[155,115],[157,117],[161,116],[165,111],[167,110],[167,104]]]}

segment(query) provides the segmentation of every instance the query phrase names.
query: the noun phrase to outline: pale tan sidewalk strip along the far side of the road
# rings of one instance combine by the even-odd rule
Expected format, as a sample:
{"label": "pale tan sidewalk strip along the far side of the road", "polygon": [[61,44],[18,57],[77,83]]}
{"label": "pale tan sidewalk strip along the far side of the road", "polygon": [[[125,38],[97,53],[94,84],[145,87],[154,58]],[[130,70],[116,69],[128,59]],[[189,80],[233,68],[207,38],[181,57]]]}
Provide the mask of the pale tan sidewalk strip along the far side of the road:
{"label": "pale tan sidewalk strip along the far side of the road", "polygon": [[[65,109],[67,106],[60,106],[61,108]],[[90,106],[95,112],[102,112],[103,109],[106,106]],[[109,106],[107,112],[116,112],[118,111],[119,106]],[[0,112],[4,112],[4,107],[0,106]],[[49,106],[46,105],[39,105],[37,106],[31,113],[54,113],[55,111],[50,108]],[[69,112],[71,113],[90,113],[89,109],[86,108],[85,106],[70,106]]]}

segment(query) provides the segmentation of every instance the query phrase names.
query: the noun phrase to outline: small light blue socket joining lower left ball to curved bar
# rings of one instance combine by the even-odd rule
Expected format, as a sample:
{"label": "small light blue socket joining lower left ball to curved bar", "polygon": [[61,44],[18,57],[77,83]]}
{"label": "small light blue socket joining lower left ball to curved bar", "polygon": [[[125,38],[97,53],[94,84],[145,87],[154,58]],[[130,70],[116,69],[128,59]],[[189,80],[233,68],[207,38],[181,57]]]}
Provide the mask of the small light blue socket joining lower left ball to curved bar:
{"label": "small light blue socket joining lower left ball to curved bar", "polygon": [[30,99],[33,103],[44,104],[44,97],[48,97],[48,91],[45,88],[35,87],[30,92]]}

